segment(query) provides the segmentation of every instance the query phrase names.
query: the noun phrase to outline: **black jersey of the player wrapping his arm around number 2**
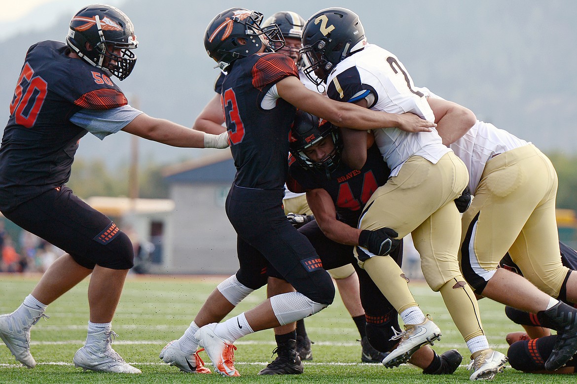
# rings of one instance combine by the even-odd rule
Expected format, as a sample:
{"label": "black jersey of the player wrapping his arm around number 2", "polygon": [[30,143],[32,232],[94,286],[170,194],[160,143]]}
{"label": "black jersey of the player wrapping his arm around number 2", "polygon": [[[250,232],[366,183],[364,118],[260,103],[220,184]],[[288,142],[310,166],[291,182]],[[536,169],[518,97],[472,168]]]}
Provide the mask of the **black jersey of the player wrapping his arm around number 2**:
{"label": "black jersey of the player wrapping his arm around number 2", "polygon": [[280,98],[264,100],[263,107],[263,99],[288,76],[298,78],[293,59],[264,53],[238,59],[224,77],[220,100],[237,167],[234,182],[239,187],[284,187],[288,135],[296,108]]}

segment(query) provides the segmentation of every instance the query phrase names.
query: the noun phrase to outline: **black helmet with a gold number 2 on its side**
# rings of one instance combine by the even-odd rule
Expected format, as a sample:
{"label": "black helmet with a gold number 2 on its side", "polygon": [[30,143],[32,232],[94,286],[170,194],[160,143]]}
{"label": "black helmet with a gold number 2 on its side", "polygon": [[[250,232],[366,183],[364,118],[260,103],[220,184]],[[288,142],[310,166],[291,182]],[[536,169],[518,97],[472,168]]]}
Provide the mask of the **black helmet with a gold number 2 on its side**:
{"label": "black helmet with a gold number 2 on its side", "polygon": [[356,13],[339,7],[320,10],[306,21],[302,32],[306,76],[316,85],[327,82],[338,63],[365,45],[365,29]]}

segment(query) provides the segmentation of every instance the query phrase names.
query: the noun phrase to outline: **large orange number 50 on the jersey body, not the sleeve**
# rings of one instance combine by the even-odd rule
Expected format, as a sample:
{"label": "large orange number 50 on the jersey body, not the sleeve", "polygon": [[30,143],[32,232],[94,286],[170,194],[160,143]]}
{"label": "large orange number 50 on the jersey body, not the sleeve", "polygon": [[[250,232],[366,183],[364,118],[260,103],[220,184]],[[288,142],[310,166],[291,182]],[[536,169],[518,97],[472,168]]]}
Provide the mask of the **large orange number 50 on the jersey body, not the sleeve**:
{"label": "large orange number 50 on the jersey body, not the sleeve", "polygon": [[10,103],[10,115],[14,115],[16,123],[27,128],[32,127],[47,93],[48,83],[42,77],[34,76],[32,67],[25,63]]}

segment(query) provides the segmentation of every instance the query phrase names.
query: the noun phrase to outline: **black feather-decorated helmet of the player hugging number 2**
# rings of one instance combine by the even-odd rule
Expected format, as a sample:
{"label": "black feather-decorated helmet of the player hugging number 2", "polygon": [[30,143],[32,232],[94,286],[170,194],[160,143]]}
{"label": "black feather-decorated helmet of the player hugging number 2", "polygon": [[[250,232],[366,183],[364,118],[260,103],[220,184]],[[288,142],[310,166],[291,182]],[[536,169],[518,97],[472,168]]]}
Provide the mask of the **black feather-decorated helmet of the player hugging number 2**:
{"label": "black feather-decorated helmet of the player hugging number 2", "polygon": [[[269,44],[280,42],[279,48],[267,46],[265,51],[276,51],[284,46],[284,39],[276,24],[260,26],[263,14],[244,8],[230,8],[220,12],[208,24],[204,32],[204,48],[221,70],[241,57],[247,57],[260,51],[265,35]],[[241,39],[242,38],[242,39]],[[239,40],[241,39],[241,40]]]}

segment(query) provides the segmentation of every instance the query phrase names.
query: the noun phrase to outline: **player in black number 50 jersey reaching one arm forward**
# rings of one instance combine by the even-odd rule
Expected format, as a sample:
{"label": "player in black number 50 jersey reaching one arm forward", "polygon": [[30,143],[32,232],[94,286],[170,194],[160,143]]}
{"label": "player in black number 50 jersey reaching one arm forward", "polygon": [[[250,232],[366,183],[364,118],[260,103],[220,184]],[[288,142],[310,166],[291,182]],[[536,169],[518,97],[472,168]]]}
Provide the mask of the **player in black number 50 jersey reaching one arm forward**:
{"label": "player in black number 50 jersey reaching one arm forward", "polygon": [[21,228],[64,250],[31,295],[0,316],[0,337],[16,360],[36,366],[29,332],[46,306],[85,277],[90,319],[74,365],[84,370],[140,373],[110,347],[111,321],[133,247],[104,214],[65,183],[78,142],[88,132],[101,140],[120,130],[164,144],[226,148],[226,135],[205,134],[155,119],[129,106],[112,77],[123,80],[136,63],[138,42],[130,19],[108,5],[90,5],[70,21],[66,43],[29,48],[0,147],[0,211]]}

